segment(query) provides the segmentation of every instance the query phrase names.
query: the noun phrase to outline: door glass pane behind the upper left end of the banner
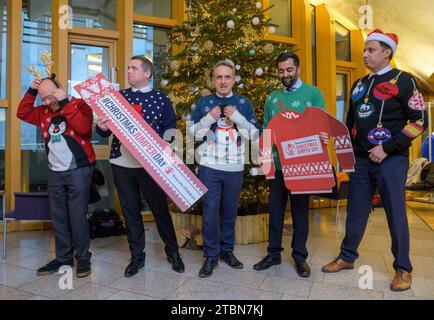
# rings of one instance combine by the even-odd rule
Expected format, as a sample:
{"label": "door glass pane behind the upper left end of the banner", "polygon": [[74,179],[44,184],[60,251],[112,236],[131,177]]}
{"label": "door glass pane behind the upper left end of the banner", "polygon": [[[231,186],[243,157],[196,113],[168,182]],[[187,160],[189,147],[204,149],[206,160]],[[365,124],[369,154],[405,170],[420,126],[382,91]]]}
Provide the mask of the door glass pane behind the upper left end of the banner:
{"label": "door glass pane behind the upper left end of the banner", "polygon": [[[73,43],[71,45],[71,80],[69,81],[69,93],[77,97],[73,90],[74,86],[103,73],[110,79],[109,73],[109,49],[101,46],[90,46]],[[95,125],[98,122],[96,114],[93,117],[94,126],[92,143],[96,145],[108,145],[109,138],[103,138],[95,132]]]}

